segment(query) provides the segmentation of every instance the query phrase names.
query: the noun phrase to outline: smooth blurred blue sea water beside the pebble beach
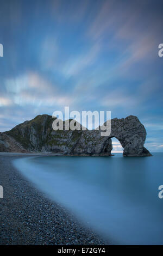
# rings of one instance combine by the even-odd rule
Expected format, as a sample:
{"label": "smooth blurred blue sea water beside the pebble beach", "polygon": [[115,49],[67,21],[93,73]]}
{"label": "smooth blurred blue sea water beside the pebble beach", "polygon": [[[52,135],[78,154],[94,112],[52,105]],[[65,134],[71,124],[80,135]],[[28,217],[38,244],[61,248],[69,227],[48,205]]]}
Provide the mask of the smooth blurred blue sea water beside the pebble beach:
{"label": "smooth blurred blue sea water beside the pebble beach", "polygon": [[120,244],[163,244],[163,153],[153,157],[46,156],[15,166],[51,199]]}

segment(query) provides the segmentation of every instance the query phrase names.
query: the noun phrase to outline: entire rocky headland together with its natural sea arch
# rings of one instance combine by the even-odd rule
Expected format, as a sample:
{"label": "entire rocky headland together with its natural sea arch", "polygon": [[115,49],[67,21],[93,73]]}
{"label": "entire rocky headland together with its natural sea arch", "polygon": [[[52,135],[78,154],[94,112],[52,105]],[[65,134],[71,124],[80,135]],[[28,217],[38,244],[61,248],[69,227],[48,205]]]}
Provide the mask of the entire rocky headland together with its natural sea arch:
{"label": "entire rocky headland together with its natural sea arch", "polygon": [[111,119],[111,134],[108,137],[101,136],[101,130],[54,131],[54,120],[50,115],[37,115],[4,134],[30,152],[110,156],[111,138],[116,137],[124,148],[124,156],[151,155],[143,147],[146,139],[145,127],[133,115],[125,119]]}

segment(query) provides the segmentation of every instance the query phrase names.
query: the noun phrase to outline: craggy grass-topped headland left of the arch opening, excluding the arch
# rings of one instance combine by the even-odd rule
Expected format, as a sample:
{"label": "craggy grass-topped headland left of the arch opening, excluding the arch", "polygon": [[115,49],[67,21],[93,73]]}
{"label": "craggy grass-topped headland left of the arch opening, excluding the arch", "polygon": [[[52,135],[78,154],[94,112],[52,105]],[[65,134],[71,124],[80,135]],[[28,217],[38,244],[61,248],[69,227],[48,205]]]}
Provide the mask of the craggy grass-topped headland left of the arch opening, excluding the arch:
{"label": "craggy grass-topped headland left of the arch opening, excluding the arch", "polygon": [[111,139],[99,131],[54,131],[50,115],[38,115],[33,120],[5,132],[30,152],[60,153],[63,155],[111,155]]}

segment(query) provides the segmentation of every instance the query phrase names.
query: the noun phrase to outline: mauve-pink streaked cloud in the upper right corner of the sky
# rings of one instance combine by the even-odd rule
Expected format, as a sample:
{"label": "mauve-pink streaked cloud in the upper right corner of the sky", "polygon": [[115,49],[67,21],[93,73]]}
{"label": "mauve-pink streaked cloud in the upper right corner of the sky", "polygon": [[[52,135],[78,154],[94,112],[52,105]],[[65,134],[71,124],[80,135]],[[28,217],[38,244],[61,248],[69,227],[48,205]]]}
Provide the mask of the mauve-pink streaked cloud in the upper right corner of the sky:
{"label": "mauve-pink streaked cloud in the upper right corner of the sky", "polygon": [[119,55],[114,74],[123,75],[130,70],[133,74],[133,65],[158,57],[156,48],[162,16],[153,14],[149,6],[143,1],[103,1],[91,22],[87,31],[89,38],[101,41],[103,47],[116,50]]}

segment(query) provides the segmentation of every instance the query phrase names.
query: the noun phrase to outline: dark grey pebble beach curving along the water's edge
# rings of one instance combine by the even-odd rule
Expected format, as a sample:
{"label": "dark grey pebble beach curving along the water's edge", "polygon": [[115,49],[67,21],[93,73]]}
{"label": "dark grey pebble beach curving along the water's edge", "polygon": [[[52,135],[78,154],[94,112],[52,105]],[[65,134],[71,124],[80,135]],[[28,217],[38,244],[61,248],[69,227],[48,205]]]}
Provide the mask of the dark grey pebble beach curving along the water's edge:
{"label": "dark grey pebble beach curving along the water's edge", "polygon": [[0,153],[0,245],[108,245],[91,228],[48,199],[12,165],[20,157],[47,154]]}

